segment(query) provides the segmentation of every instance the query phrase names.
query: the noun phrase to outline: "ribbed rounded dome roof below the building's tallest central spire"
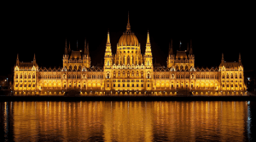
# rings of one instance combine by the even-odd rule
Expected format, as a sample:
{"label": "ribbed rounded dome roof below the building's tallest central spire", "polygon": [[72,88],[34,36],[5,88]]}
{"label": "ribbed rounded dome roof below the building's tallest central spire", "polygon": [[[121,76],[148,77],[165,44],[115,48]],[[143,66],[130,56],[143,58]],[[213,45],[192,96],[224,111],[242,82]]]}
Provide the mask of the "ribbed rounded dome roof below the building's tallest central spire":
{"label": "ribbed rounded dome roof below the building's tallest central spire", "polygon": [[125,31],[119,38],[119,46],[138,46],[138,40],[135,34],[131,31]]}

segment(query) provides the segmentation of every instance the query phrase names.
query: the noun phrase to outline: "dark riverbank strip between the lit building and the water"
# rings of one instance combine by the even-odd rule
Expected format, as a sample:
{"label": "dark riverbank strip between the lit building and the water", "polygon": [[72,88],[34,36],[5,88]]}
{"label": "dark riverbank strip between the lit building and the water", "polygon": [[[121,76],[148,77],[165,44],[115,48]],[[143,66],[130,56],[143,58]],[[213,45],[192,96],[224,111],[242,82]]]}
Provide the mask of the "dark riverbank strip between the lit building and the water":
{"label": "dark riverbank strip between the lit building and the water", "polygon": [[0,101],[247,101],[256,96],[0,96]]}

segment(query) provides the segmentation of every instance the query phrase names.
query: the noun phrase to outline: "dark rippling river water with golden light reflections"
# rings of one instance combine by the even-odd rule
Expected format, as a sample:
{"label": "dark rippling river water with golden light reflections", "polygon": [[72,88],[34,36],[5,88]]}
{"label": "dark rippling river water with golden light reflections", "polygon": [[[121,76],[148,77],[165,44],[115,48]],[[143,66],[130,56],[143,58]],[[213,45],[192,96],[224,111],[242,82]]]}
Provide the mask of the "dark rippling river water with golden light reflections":
{"label": "dark rippling river water with golden light reflections", "polygon": [[256,141],[256,102],[0,102],[0,141]]}

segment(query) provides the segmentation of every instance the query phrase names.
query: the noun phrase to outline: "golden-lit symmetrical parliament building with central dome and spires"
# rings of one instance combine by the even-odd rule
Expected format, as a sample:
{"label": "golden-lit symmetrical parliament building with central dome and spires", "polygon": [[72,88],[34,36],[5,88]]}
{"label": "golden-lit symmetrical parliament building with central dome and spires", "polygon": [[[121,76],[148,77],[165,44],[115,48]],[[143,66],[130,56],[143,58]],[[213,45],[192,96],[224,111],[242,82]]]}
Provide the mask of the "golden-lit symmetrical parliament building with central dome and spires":
{"label": "golden-lit symmetrical parliament building with central dome and spires", "polygon": [[[181,45],[181,44],[180,44]],[[126,31],[119,38],[116,54],[112,53],[110,35],[106,43],[102,68],[90,66],[89,45],[84,49],[71,50],[65,47],[63,66],[59,69],[42,69],[36,58],[31,63],[20,62],[17,56],[14,74],[15,95],[47,94],[63,95],[76,90],[88,94],[207,94],[244,95],[243,65],[241,55],[238,62],[225,62],[222,55],[218,68],[195,68],[192,43],[187,50],[174,54],[172,43],[169,47],[167,67],[155,67],[147,37],[145,54],[131,31],[130,21]]]}

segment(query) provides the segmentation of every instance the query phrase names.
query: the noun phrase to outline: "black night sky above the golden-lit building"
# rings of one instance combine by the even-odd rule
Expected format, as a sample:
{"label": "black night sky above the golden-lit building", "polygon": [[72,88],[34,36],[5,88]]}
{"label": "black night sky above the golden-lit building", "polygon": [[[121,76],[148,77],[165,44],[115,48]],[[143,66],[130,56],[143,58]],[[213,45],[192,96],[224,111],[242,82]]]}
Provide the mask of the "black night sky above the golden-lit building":
{"label": "black night sky above the golden-lit building", "polygon": [[[21,5],[20,5],[21,4]],[[93,7],[92,5],[48,6],[16,3],[7,6],[2,17],[2,47],[0,76],[11,73],[17,54],[20,61],[32,61],[36,54],[40,67],[62,66],[65,39],[71,48],[84,48],[89,42],[91,65],[103,60],[107,33],[110,32],[112,51],[127,24],[130,12],[131,31],[145,52],[149,31],[154,62],[166,66],[169,43],[173,39],[174,51],[181,40],[182,49],[192,39],[195,67],[216,67],[221,54],[225,61],[241,61],[245,70],[255,70],[255,10],[252,3],[202,3],[205,6],[174,4],[162,7],[142,6],[137,9]],[[162,4],[165,5],[165,4]]]}

